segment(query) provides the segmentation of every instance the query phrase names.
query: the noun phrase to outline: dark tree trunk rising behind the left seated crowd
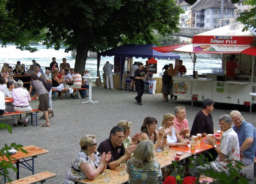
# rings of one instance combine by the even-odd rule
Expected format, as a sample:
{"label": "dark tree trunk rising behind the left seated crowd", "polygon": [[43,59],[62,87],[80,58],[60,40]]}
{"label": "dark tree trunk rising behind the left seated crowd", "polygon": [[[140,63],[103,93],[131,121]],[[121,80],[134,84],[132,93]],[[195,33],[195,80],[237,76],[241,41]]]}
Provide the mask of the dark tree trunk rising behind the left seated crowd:
{"label": "dark tree trunk rising behind the left seated crowd", "polygon": [[85,64],[87,60],[88,47],[85,43],[78,44],[76,48],[76,62],[75,70],[78,70],[80,74],[83,73],[85,69]]}

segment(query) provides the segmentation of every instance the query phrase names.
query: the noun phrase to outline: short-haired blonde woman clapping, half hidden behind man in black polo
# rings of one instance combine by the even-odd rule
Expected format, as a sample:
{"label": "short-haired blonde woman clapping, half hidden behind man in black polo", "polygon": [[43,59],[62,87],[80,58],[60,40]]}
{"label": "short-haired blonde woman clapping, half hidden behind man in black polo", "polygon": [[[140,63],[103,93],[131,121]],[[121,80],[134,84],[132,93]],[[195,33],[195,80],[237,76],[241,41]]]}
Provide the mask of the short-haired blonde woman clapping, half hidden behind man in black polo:
{"label": "short-haired blonde woman clapping, half hidden behind man in black polo", "polygon": [[132,131],[132,123],[131,122],[128,122],[126,120],[122,120],[122,121],[119,121],[118,126],[122,127],[124,129],[124,141],[122,141],[122,143],[124,144],[124,147],[125,149],[130,145],[135,145],[137,144],[139,138],[140,138],[140,133],[136,133],[135,135],[132,134],[132,139],[130,138],[130,134],[131,134],[131,131]]}

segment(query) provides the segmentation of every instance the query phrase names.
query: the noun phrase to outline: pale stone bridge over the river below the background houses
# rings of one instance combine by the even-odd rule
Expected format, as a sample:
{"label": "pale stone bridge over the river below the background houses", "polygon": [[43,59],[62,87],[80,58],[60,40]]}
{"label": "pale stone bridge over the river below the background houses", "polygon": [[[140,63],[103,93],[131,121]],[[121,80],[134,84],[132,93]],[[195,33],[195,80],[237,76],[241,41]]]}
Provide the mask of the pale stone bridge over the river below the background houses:
{"label": "pale stone bridge over the river below the background houses", "polygon": [[[210,31],[212,28],[196,28],[196,27],[180,27],[179,33],[173,33],[173,36],[182,36],[187,38],[192,38],[193,35]],[[157,31],[154,31],[155,34],[158,34]]]}

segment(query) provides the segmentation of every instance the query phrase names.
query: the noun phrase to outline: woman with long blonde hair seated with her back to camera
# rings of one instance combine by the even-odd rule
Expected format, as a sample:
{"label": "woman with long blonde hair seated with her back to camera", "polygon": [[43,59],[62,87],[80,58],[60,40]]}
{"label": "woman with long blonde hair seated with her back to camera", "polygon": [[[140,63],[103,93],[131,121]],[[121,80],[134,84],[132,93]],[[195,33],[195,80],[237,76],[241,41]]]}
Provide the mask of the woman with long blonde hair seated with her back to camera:
{"label": "woman with long blonde hair seated with her back to camera", "polygon": [[156,161],[154,144],[150,140],[141,141],[132,159],[127,161],[128,184],[158,184],[162,179],[160,164]]}

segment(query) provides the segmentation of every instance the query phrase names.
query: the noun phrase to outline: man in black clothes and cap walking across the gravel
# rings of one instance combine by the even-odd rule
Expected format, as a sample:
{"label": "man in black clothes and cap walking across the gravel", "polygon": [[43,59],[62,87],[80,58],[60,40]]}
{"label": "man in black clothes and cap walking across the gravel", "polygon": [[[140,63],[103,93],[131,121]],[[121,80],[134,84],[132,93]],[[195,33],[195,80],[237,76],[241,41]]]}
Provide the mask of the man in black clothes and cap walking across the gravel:
{"label": "man in black clothes and cap walking across the gravel", "polygon": [[142,95],[144,93],[144,80],[147,77],[147,72],[143,68],[143,63],[138,63],[138,69],[134,72],[134,80],[135,80],[135,87],[138,95],[135,97],[135,100],[137,101],[138,105],[142,106]]}

